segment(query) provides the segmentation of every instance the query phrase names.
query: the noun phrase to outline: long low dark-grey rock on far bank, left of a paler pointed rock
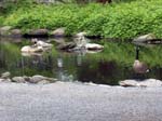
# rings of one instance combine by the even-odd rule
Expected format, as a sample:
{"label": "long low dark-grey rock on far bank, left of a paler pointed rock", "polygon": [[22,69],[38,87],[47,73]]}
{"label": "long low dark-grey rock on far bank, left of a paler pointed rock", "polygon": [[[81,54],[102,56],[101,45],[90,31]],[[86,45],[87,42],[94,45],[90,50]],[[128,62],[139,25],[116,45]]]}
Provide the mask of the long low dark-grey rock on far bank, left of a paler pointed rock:
{"label": "long low dark-grey rock on far bank, left of a paler pointed rock", "polygon": [[48,29],[30,30],[28,35],[30,35],[30,36],[48,36],[49,30]]}

